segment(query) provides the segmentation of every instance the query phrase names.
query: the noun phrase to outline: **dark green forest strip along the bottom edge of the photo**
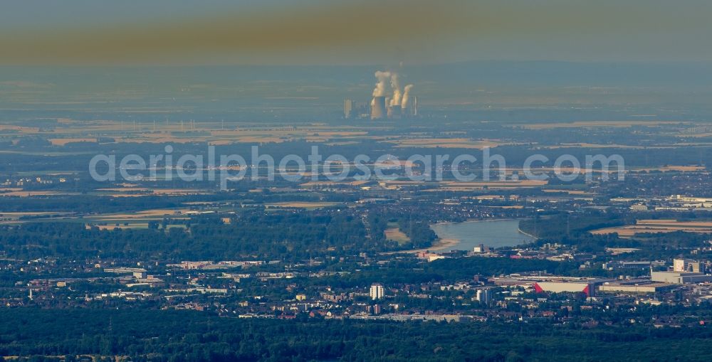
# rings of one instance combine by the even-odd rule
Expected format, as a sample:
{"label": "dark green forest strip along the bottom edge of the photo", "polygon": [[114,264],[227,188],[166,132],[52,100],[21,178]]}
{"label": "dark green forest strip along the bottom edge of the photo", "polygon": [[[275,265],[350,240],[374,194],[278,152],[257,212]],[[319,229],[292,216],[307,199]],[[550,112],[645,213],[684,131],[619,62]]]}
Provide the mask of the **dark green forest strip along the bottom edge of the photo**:
{"label": "dark green forest strip along the bottom edge of the photo", "polygon": [[[305,314],[304,314],[305,315]],[[706,361],[707,327],[220,318],[179,311],[0,309],[0,356],[131,361]],[[22,358],[24,360],[24,358]],[[51,361],[57,361],[56,358]]]}

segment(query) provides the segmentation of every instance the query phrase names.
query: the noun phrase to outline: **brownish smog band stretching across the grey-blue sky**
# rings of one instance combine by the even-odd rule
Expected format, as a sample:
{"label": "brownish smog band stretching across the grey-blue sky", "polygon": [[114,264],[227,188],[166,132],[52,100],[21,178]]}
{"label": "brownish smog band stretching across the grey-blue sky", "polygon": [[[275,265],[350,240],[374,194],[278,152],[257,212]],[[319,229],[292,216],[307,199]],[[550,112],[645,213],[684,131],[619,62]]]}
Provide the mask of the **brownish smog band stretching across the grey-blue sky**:
{"label": "brownish smog band stretching across the grey-blue sky", "polygon": [[[333,1],[300,6],[300,1],[269,10],[231,9],[213,16],[157,18],[155,21],[105,26],[33,28],[0,34],[2,64],[245,63],[291,53],[418,51],[429,60],[438,53],[467,46],[468,39],[492,42],[533,34],[550,36],[629,36],[651,29],[695,26],[654,9],[604,1],[537,6],[537,1]],[[624,1],[623,1],[624,3]],[[535,40],[533,40],[535,41]],[[449,47],[449,48],[448,48]],[[263,57],[263,58],[260,58]],[[267,61],[270,63],[270,60]]]}

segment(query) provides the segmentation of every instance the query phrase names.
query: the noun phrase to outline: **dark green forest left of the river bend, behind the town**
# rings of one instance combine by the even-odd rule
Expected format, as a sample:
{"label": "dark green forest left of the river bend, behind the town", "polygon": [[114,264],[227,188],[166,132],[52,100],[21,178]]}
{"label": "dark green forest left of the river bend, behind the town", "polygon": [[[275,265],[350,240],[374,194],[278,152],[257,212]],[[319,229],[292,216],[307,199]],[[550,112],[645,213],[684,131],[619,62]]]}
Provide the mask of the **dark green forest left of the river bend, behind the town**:
{"label": "dark green forest left of the river bend, behind the town", "polygon": [[[157,227],[159,225],[155,225]],[[25,223],[0,227],[11,257],[125,257],[160,260],[300,259],[384,245],[365,238],[361,220],[348,215],[251,213],[230,224],[184,228],[99,230],[79,223]]]}

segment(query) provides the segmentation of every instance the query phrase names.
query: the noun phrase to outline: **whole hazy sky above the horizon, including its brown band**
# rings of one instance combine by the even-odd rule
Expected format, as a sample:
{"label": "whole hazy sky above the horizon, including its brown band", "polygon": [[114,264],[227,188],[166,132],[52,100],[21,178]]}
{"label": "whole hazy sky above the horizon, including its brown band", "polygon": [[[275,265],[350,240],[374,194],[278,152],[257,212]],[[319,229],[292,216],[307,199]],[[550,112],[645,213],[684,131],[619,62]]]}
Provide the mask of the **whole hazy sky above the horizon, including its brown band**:
{"label": "whole hazy sky above the horizon, including its brown band", "polygon": [[712,61],[709,0],[26,0],[0,64]]}

